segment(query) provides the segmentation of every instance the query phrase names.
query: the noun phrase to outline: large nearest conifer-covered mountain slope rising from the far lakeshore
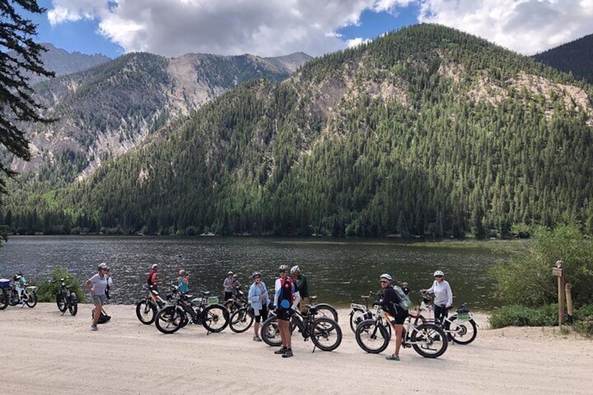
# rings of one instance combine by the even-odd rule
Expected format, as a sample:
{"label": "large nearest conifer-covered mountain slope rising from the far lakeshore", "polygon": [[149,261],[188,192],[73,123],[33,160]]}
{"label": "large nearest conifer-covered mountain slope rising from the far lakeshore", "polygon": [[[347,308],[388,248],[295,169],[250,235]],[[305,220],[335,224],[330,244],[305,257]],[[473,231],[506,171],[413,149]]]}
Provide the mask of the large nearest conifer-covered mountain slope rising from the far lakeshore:
{"label": "large nearest conifer-covered mountain slope rising from the far lakeshore", "polygon": [[593,89],[422,24],[224,93],[85,182],[15,190],[14,231],[593,232]]}

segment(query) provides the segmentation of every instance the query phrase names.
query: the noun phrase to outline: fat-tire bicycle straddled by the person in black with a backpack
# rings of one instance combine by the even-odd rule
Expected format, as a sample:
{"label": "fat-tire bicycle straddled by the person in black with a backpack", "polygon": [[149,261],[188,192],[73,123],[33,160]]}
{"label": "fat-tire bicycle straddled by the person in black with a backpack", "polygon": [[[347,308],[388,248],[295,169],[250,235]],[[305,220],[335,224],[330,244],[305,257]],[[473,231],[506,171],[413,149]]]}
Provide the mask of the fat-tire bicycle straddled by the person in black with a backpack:
{"label": "fat-tire bicycle straddled by the person in black with a backpack", "polygon": [[[383,317],[389,319],[387,316],[387,313],[379,308],[375,317],[365,319],[357,326],[356,343],[362,350],[378,354],[387,348],[391,336],[388,335],[382,319]],[[402,347],[413,347],[415,352],[425,358],[440,357],[447,350],[448,341],[441,326],[422,322],[418,312],[410,312],[406,322],[404,322]]]}

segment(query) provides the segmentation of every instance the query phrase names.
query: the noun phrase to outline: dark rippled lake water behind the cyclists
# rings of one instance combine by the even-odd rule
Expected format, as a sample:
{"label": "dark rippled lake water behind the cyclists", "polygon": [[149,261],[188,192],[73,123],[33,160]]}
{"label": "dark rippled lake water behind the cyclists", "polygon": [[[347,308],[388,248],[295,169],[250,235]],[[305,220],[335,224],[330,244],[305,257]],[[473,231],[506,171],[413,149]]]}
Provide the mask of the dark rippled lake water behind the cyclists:
{"label": "dark rippled lake water behind the cyclists", "polygon": [[252,271],[262,271],[264,282],[273,288],[280,264],[299,264],[312,294],[336,307],[347,307],[352,301],[359,303],[359,295],[379,289],[381,273],[407,281],[417,292],[430,287],[438,268],[450,282],[455,306],[469,303],[475,310],[491,310],[496,302],[487,268],[507,258],[506,253],[478,245],[392,239],[11,236],[0,248],[0,277],[9,278],[22,268],[28,280],[40,283],[59,265],[84,281],[105,261],[114,281],[113,301],[135,303],[143,296],[141,286],[153,263],[159,264],[164,285],[175,281],[178,270],[185,268],[190,273],[190,290],[217,294],[229,270],[238,273],[245,285],[251,283]]}

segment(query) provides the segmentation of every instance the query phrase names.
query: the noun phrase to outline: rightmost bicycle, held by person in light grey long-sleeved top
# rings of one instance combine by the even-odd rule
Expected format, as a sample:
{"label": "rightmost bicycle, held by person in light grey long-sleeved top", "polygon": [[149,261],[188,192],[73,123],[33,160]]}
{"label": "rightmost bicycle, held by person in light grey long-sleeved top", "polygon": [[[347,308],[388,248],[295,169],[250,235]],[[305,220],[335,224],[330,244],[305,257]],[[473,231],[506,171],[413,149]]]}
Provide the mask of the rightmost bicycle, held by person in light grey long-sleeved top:
{"label": "rightmost bicycle, held by person in light grey long-sleeved top", "polygon": [[[426,292],[420,292],[419,300],[421,300],[420,311],[427,310],[432,312],[434,310],[430,303],[431,299]],[[462,304],[455,311],[455,314],[445,317],[443,322],[435,322],[434,319],[426,319],[424,317],[422,317],[422,320],[443,326],[448,339],[452,340],[453,343],[466,345],[476,340],[476,336],[478,336],[478,324],[473,320],[473,313],[471,313],[466,303]]]}

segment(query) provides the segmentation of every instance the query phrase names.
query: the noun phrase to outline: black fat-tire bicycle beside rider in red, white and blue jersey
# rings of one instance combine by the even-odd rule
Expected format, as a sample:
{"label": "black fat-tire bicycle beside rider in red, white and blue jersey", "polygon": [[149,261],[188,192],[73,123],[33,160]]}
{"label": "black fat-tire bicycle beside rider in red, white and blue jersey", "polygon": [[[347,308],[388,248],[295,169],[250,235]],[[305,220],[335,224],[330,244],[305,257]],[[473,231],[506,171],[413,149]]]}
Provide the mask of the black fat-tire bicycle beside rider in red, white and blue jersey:
{"label": "black fat-tire bicycle beside rider in red, white and blue jersey", "polygon": [[[342,329],[338,322],[329,317],[317,317],[317,308],[313,305],[307,305],[307,313],[304,316],[294,310],[290,323],[291,326],[294,324],[294,327],[299,328],[304,341],[310,338],[315,347],[320,350],[336,350],[342,343]],[[282,345],[276,315],[271,315],[264,321],[261,331],[260,337],[264,343],[272,347]],[[313,347],[313,352],[315,352],[315,347]]]}

